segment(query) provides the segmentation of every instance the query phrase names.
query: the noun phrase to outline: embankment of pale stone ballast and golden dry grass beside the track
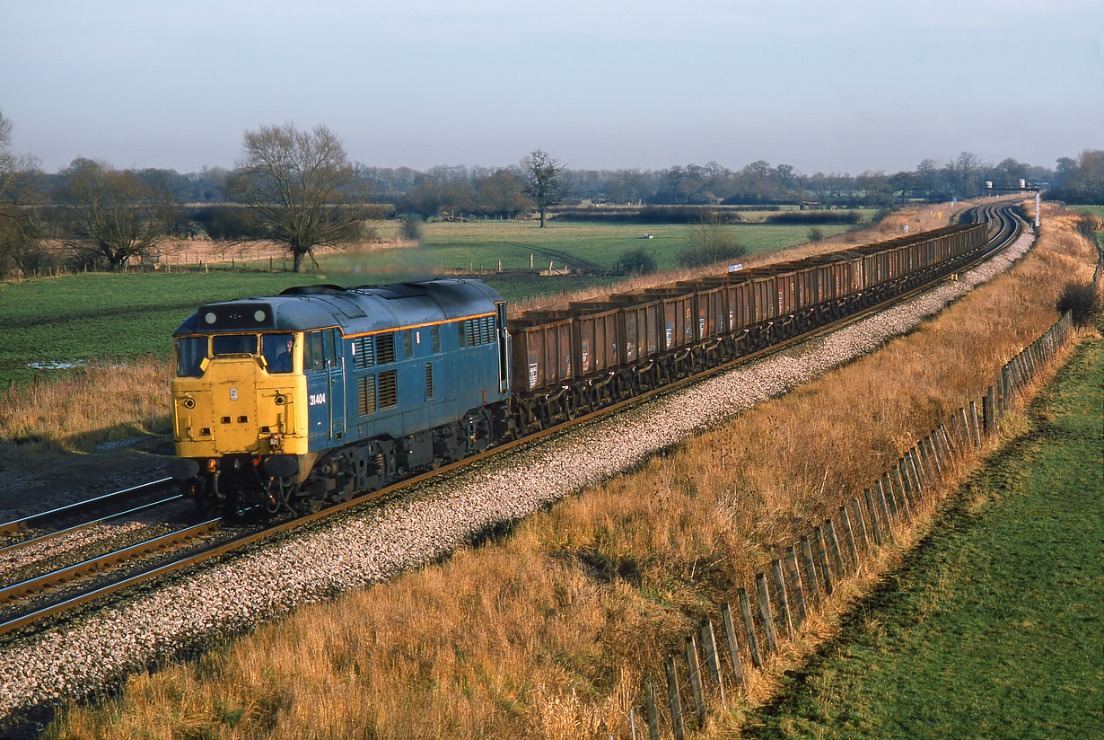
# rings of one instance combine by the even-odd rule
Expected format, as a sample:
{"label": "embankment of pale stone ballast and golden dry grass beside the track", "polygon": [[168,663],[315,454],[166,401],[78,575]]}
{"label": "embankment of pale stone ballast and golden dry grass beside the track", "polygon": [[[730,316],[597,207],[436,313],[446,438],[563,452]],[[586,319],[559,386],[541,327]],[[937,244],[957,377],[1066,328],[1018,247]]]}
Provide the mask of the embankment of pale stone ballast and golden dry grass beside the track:
{"label": "embankment of pale stone ballast and golden dry grass beside the track", "polygon": [[[661,668],[688,626],[1052,320],[1052,275],[1081,269],[1083,260],[1062,245],[1036,250],[924,324],[1008,267],[989,264],[907,307],[436,483],[412,500],[32,635],[6,652],[0,705],[10,712],[84,696],[136,665],[442,558],[496,522],[549,508],[501,541],[225,643],[201,658],[198,673],[213,680],[198,680],[190,667],[135,676],[121,704],[103,715],[77,711],[66,731],[108,716],[124,723],[109,733],[126,733],[131,720],[215,734],[259,722],[288,737],[365,727],[560,737],[627,727],[641,676]],[[694,436],[703,425],[713,429]],[[637,472],[618,475],[626,467]],[[72,657],[59,664],[57,655]],[[170,696],[182,704],[167,711]]]}

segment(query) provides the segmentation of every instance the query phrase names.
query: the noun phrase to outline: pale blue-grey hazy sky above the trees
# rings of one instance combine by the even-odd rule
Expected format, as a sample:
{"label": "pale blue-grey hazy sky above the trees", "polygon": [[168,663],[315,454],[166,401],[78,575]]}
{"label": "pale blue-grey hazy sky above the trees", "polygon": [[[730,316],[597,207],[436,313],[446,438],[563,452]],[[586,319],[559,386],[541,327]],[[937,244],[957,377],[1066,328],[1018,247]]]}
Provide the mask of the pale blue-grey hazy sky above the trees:
{"label": "pale blue-grey hazy sky above the trees", "polygon": [[1053,167],[1104,148],[1104,0],[0,0],[0,112],[75,157],[232,167],[265,124],[352,160]]}

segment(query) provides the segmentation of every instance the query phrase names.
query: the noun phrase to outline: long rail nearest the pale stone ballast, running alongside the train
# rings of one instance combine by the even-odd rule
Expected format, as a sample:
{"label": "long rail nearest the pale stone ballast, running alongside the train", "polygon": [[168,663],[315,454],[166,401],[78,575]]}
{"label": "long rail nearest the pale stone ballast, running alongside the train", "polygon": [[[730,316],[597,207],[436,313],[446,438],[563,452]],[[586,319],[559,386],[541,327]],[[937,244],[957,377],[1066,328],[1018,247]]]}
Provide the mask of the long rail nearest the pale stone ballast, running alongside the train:
{"label": "long rail nearest the pale stone ballast, running alongside the train", "polygon": [[[1008,214],[1006,213],[1005,215],[1008,215]],[[1005,221],[1005,216],[998,216],[998,218],[1002,222]],[[1012,236],[1007,237],[1004,241],[999,241],[999,242],[997,241],[997,237],[990,239],[989,242],[987,242],[987,245],[988,244],[992,244],[994,246],[991,249],[987,250],[985,253],[983,253],[978,257],[976,257],[975,260],[973,260],[972,262],[963,265],[962,269],[967,269],[969,267],[976,266],[977,264],[984,262],[985,260],[988,260],[989,257],[991,257],[992,255],[995,255],[997,252],[999,252],[1002,249],[1007,247],[1013,241],[1015,236],[1018,235],[1018,233],[1019,233],[1019,228],[1018,228],[1019,222],[1018,222],[1017,219],[1015,219],[1015,216],[1010,216],[1010,215],[1008,215],[1008,220],[1012,221],[1012,222],[1015,222],[1017,224],[1017,229],[1013,229]],[[1004,230],[1001,230],[1001,232],[1002,231]],[[115,583],[110,583],[108,585],[102,586],[102,588],[96,589],[94,591],[89,591],[89,592],[81,594],[78,596],[74,596],[73,599],[68,599],[66,601],[59,602],[56,604],[46,606],[46,607],[41,609],[39,611],[32,612],[32,613],[29,613],[29,614],[24,614],[24,615],[22,615],[20,617],[17,617],[14,620],[0,623],[0,635],[10,633],[10,632],[12,632],[14,630],[19,630],[21,627],[24,627],[24,626],[28,626],[30,624],[33,624],[34,622],[38,622],[39,620],[42,620],[42,619],[44,619],[46,616],[51,616],[51,615],[54,615],[54,614],[60,614],[60,613],[63,613],[65,611],[68,611],[71,609],[73,609],[75,606],[88,603],[91,601],[94,601],[94,600],[99,599],[99,598],[105,596],[105,595],[109,595],[109,594],[115,593],[115,592],[117,592],[117,591],[119,591],[121,589],[126,589],[126,588],[131,586],[131,585],[144,583],[144,582],[150,581],[152,579],[156,579],[156,578],[158,578],[158,577],[160,577],[162,574],[167,574],[167,573],[171,573],[171,572],[174,572],[174,571],[178,571],[178,570],[182,570],[184,568],[198,564],[198,563],[203,562],[205,560],[210,560],[211,558],[216,558],[216,557],[220,557],[220,556],[233,552],[235,550],[240,550],[240,549],[246,547],[247,545],[252,545],[254,542],[257,542],[257,541],[259,541],[259,540],[262,540],[264,538],[270,537],[273,535],[277,535],[279,532],[284,532],[284,531],[287,531],[289,529],[301,527],[302,525],[316,521],[318,519],[331,517],[331,516],[333,516],[336,514],[340,514],[341,511],[348,510],[348,509],[350,509],[352,507],[362,506],[362,505],[365,505],[365,504],[373,503],[373,501],[375,501],[375,500],[378,500],[380,498],[383,498],[383,497],[386,497],[386,496],[391,496],[391,495],[400,491],[403,488],[407,488],[407,487],[414,486],[414,485],[416,485],[418,483],[422,483],[422,482],[424,482],[426,479],[429,479],[429,478],[433,478],[433,477],[436,477],[436,476],[439,476],[439,475],[445,475],[447,473],[457,471],[457,469],[459,469],[461,467],[466,467],[466,466],[473,465],[473,464],[475,464],[477,462],[480,462],[482,459],[486,459],[486,458],[490,457],[491,455],[497,455],[499,453],[502,453],[502,452],[516,448],[516,447],[518,447],[520,445],[535,442],[535,441],[538,441],[538,440],[540,440],[540,438],[542,438],[544,436],[548,436],[550,434],[555,434],[555,433],[559,433],[559,432],[566,431],[571,426],[574,426],[574,425],[577,425],[577,424],[582,424],[584,422],[595,420],[595,419],[597,419],[599,416],[604,416],[604,415],[614,413],[614,412],[616,412],[618,410],[622,410],[622,409],[624,409],[624,408],[626,408],[626,406],[628,406],[630,404],[640,403],[643,401],[651,399],[652,397],[656,397],[656,395],[659,395],[659,394],[662,394],[662,393],[669,393],[670,391],[672,391],[675,389],[678,389],[678,388],[681,388],[683,385],[687,385],[689,383],[698,382],[698,381],[700,381],[702,379],[705,379],[705,378],[712,377],[714,374],[724,372],[726,370],[730,370],[730,369],[734,368],[735,366],[743,364],[743,363],[746,363],[746,362],[752,361],[752,360],[761,359],[762,357],[764,357],[766,355],[769,355],[769,353],[773,353],[773,352],[777,351],[778,349],[792,346],[794,343],[807,341],[810,338],[815,338],[815,337],[820,336],[822,334],[827,334],[827,332],[834,331],[836,329],[839,329],[842,326],[847,326],[849,324],[853,324],[853,323],[856,323],[856,321],[858,321],[858,320],[860,320],[862,318],[866,318],[867,316],[869,316],[871,314],[878,313],[879,310],[883,310],[883,309],[888,308],[889,306],[902,303],[902,302],[907,300],[909,298],[911,298],[911,297],[913,297],[915,295],[919,295],[921,293],[927,292],[927,290],[932,289],[934,286],[936,286],[937,284],[940,284],[940,283],[942,283],[942,282],[944,282],[946,279],[951,279],[951,276],[949,275],[948,276],[942,276],[942,277],[940,277],[937,279],[930,281],[930,282],[925,283],[924,285],[922,285],[922,286],[917,286],[917,287],[915,287],[915,288],[913,288],[911,290],[907,290],[905,293],[902,293],[902,294],[899,294],[896,296],[893,296],[892,298],[889,298],[889,299],[887,299],[887,300],[884,300],[884,302],[882,302],[880,304],[877,304],[877,305],[873,305],[873,306],[869,306],[869,307],[867,307],[867,308],[864,308],[864,309],[862,309],[860,311],[856,311],[854,314],[851,314],[849,316],[846,316],[846,317],[842,317],[842,318],[837,319],[835,321],[831,321],[831,323],[829,323],[829,324],[827,324],[825,326],[821,326],[821,327],[818,327],[816,329],[813,329],[811,331],[807,331],[807,332],[798,335],[796,337],[792,337],[792,338],[786,339],[784,341],[781,341],[781,342],[777,342],[775,345],[772,345],[771,347],[765,347],[765,348],[763,348],[761,350],[757,350],[755,352],[751,352],[749,355],[742,356],[739,359],[732,360],[730,362],[726,362],[724,364],[718,366],[715,368],[710,368],[709,370],[705,370],[705,371],[703,371],[701,373],[691,376],[689,378],[680,379],[680,380],[678,380],[676,382],[672,382],[672,383],[669,383],[667,385],[664,385],[662,388],[654,389],[654,390],[648,391],[647,393],[644,393],[644,394],[641,394],[639,397],[634,397],[631,399],[627,399],[625,401],[620,401],[620,402],[611,404],[608,406],[604,406],[602,409],[598,409],[598,410],[593,411],[593,412],[591,412],[588,414],[578,416],[578,417],[576,417],[574,420],[571,420],[569,422],[564,422],[562,424],[556,424],[554,426],[550,426],[546,430],[541,430],[539,432],[535,432],[533,434],[527,435],[524,437],[520,437],[518,440],[512,440],[510,442],[506,442],[503,444],[496,445],[495,447],[491,447],[491,448],[489,448],[489,450],[487,450],[487,451],[485,451],[482,453],[479,453],[477,455],[473,455],[470,457],[466,457],[466,458],[460,459],[460,461],[456,461],[455,463],[450,463],[448,465],[444,465],[440,468],[437,468],[435,471],[429,471],[429,472],[422,473],[420,475],[415,475],[413,477],[406,478],[404,480],[400,480],[400,482],[397,482],[395,484],[392,484],[391,486],[386,486],[384,488],[381,488],[380,490],[372,491],[370,494],[364,494],[362,496],[358,496],[358,497],[355,497],[353,499],[350,499],[349,501],[344,501],[344,503],[341,503],[341,504],[336,504],[336,505],[330,506],[328,508],[321,509],[320,511],[317,511],[315,514],[309,514],[309,515],[305,515],[305,516],[301,516],[301,517],[297,517],[295,519],[290,519],[288,521],[280,522],[280,524],[278,524],[278,525],[276,525],[274,527],[269,527],[269,528],[263,529],[263,530],[257,531],[257,532],[252,532],[252,533],[248,533],[248,535],[243,535],[243,536],[233,538],[233,539],[231,539],[231,540],[229,540],[226,542],[223,542],[221,545],[217,545],[217,546],[214,546],[214,547],[209,548],[206,550],[203,550],[202,552],[193,553],[191,556],[188,556],[185,558],[181,558],[179,560],[176,560],[176,561],[172,561],[172,562],[169,562],[169,563],[163,563],[163,564],[158,565],[157,568],[153,568],[153,569],[151,569],[149,571],[131,575],[129,578],[126,578],[124,580],[117,581]],[[210,524],[210,522],[204,522],[204,524]]]}

